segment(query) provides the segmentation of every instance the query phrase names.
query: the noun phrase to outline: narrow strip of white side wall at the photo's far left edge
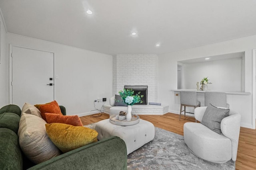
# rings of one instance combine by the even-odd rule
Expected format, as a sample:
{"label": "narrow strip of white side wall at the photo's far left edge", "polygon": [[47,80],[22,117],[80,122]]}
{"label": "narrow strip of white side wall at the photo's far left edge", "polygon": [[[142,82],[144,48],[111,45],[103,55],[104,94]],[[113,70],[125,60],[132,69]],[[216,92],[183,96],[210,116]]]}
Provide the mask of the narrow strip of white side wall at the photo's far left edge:
{"label": "narrow strip of white side wall at the photo's far left edge", "polygon": [[0,108],[8,104],[6,100],[6,29],[4,27],[4,21],[2,20],[2,16],[0,15],[1,22],[1,61],[0,61]]}

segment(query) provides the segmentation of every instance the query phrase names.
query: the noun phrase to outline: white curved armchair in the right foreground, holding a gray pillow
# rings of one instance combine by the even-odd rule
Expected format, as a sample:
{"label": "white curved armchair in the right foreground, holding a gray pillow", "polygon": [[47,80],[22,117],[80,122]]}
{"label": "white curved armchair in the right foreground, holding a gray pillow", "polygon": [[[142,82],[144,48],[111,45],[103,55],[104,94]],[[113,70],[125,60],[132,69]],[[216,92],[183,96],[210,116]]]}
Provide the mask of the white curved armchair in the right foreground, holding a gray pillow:
{"label": "white curved armchair in the right foreground, holding a gray pillow", "polygon": [[[220,107],[223,108],[223,107]],[[194,111],[196,120],[202,121],[206,107],[197,107]],[[201,123],[184,124],[184,141],[196,156],[210,162],[236,161],[241,115],[230,110],[228,117],[220,123],[218,134]]]}

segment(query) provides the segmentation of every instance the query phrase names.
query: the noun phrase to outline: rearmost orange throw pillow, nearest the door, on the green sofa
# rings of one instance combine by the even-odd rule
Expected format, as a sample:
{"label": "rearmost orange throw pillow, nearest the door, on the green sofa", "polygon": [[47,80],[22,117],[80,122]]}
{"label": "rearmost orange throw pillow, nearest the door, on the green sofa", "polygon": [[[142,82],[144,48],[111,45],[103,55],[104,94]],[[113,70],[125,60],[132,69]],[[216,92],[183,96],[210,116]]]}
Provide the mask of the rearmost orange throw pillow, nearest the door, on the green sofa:
{"label": "rearmost orange throw pillow, nearest the door, on the green sofa", "polygon": [[56,100],[47,104],[37,104],[35,105],[35,107],[37,107],[40,110],[41,116],[45,121],[46,121],[45,113],[55,113],[55,114],[62,115],[60,111],[60,106],[58,105]]}

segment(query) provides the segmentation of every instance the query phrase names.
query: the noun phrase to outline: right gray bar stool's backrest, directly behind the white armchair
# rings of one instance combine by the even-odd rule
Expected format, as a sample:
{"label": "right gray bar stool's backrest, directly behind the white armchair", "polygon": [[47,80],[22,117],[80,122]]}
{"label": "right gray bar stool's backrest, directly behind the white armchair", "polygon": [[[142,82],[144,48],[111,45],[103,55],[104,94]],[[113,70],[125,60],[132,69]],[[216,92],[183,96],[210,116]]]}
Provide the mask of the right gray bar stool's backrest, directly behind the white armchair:
{"label": "right gray bar stool's backrest, directly behind the white armchair", "polygon": [[226,93],[223,92],[205,92],[204,93],[204,106],[212,104],[216,107],[226,107],[229,108],[227,104]]}

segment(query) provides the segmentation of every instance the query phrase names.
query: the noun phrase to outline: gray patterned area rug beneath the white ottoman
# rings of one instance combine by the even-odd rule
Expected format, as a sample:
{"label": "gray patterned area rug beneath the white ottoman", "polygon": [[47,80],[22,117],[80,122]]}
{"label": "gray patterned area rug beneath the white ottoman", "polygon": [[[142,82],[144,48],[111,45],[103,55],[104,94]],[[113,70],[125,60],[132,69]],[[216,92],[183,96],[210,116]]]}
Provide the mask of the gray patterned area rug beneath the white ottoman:
{"label": "gray patterned area rug beneath the white ottoman", "polygon": [[[95,129],[95,123],[86,125]],[[155,138],[130,153],[128,170],[234,170],[235,162],[213,163],[188,149],[182,135],[155,127]]]}

